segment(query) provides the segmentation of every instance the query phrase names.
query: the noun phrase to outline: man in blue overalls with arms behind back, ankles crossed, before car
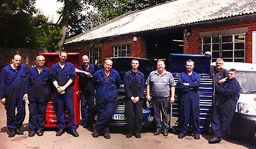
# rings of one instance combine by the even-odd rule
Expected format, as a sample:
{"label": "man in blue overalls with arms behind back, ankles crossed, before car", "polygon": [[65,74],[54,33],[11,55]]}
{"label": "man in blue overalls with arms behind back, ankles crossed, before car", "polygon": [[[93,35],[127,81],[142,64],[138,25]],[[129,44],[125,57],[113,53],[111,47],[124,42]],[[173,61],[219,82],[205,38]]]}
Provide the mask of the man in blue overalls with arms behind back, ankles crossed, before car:
{"label": "man in blue overalls with arms behind back, ankles crossed, before car", "polygon": [[97,138],[99,132],[104,138],[110,139],[109,125],[116,105],[117,88],[121,79],[119,73],[112,69],[112,60],[104,61],[104,68],[99,69],[93,76],[92,83],[96,89],[96,110],[98,121],[93,125],[93,137]]}

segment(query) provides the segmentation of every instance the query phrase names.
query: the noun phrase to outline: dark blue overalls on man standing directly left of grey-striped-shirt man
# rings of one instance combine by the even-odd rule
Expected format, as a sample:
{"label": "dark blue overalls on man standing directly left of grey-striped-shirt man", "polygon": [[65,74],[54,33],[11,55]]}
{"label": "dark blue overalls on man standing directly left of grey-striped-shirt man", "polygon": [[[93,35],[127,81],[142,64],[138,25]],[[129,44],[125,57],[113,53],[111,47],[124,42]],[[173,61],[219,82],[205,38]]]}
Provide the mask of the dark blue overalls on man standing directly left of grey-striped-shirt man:
{"label": "dark blue overalls on man standing directly left of grey-striped-shirt man", "polygon": [[[144,74],[139,70],[136,76],[133,76],[132,71],[124,74],[123,79],[124,90],[126,93],[125,100],[125,117],[127,122],[127,130],[140,133],[142,129],[141,123],[143,122],[143,92],[144,92]],[[131,97],[139,97],[138,103],[134,104]]]}

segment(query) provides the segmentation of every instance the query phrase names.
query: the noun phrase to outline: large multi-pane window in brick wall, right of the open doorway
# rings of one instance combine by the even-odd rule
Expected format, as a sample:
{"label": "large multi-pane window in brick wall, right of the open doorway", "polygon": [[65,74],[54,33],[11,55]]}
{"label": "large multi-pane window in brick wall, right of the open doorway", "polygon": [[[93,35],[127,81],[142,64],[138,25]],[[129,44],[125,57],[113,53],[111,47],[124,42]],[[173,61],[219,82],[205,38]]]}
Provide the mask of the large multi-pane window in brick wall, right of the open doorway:
{"label": "large multi-pane window in brick wall, right of the open doorway", "polygon": [[202,38],[202,54],[211,52],[211,61],[222,58],[226,62],[245,61],[245,33]]}

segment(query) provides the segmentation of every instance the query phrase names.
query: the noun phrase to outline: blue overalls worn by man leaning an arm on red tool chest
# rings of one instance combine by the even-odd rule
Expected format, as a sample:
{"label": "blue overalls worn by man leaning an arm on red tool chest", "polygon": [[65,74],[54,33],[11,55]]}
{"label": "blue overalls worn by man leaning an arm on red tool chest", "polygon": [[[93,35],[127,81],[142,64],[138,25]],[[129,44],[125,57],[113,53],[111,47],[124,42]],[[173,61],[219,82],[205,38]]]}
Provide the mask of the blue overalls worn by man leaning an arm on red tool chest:
{"label": "blue overalls worn by man leaning an arm on red tool chest", "polygon": [[[83,65],[77,67],[79,70],[83,70],[86,72],[90,72],[92,75],[94,74],[94,65],[89,64],[89,68],[86,69]],[[95,98],[95,90],[92,85],[92,78],[87,77],[84,73],[78,73],[79,75],[79,88],[82,93],[80,94],[81,100],[81,117],[83,124],[88,123],[88,115],[90,106],[92,101]]]}

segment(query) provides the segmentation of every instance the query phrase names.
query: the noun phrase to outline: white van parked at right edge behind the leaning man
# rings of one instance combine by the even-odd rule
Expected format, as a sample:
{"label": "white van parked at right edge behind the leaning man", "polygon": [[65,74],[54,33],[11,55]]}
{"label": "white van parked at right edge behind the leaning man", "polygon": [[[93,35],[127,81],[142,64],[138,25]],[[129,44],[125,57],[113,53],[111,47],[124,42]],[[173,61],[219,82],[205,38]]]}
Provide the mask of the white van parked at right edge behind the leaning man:
{"label": "white van parked at right edge behind the leaning man", "polygon": [[[215,65],[215,62],[211,65]],[[227,70],[236,69],[240,84],[240,97],[228,137],[247,137],[256,142],[256,64],[224,62],[222,67]]]}

